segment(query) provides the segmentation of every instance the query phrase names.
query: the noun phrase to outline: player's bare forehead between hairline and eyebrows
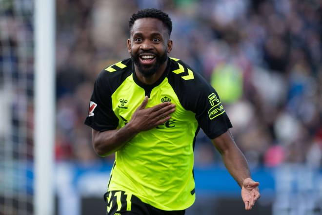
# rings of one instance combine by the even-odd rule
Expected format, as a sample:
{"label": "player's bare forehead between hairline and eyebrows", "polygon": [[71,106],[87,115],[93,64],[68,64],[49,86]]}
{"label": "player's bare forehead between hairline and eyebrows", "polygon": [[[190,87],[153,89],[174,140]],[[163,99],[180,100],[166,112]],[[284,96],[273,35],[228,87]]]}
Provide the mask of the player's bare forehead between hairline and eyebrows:
{"label": "player's bare forehead between hairline and eyebrows", "polygon": [[131,35],[139,32],[159,32],[163,34],[165,30],[162,21],[155,18],[141,18],[134,22]]}

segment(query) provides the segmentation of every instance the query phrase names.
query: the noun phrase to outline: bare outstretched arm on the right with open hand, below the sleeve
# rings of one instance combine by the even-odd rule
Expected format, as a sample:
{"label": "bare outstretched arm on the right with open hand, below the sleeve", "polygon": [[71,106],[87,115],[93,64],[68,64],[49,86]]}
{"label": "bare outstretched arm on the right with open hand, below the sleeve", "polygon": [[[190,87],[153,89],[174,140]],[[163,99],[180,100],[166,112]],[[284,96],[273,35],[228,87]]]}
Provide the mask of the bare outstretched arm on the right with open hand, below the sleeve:
{"label": "bare outstretched arm on the right with open hand, below the sleeve", "polygon": [[246,158],[237,147],[232,134],[228,130],[212,139],[212,142],[221,153],[227,170],[241,187],[241,197],[245,203],[245,209],[252,209],[256,200],[260,197],[259,183],[251,179]]}

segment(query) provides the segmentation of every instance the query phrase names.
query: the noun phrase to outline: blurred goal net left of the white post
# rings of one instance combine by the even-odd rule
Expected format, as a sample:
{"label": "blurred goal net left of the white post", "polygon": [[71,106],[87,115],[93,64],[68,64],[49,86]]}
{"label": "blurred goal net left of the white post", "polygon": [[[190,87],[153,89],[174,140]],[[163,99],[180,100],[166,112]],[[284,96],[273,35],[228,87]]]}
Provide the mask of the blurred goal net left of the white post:
{"label": "blurred goal net left of the white post", "polygon": [[0,0],[0,214],[33,214],[34,0]]}

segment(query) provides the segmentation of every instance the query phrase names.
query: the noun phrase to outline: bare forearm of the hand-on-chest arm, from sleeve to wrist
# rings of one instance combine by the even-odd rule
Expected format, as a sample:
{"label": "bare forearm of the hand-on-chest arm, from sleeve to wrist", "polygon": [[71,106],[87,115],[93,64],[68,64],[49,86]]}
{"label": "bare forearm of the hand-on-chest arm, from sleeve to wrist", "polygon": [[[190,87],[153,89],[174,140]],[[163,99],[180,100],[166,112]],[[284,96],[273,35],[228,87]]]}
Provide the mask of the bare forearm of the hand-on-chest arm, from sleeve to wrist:
{"label": "bare forearm of the hand-on-chest arm, from sleeve to wrist", "polygon": [[104,157],[123,147],[138,133],[131,125],[126,124],[121,129],[95,131],[92,130],[92,142],[95,152]]}

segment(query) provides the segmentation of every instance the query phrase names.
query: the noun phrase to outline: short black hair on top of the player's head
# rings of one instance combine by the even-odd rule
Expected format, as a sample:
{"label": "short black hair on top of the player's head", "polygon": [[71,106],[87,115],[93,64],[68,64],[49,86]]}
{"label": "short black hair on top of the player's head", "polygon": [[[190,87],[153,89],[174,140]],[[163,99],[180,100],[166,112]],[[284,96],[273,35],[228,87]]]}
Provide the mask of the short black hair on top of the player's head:
{"label": "short black hair on top of the player's head", "polygon": [[156,18],[156,19],[162,21],[162,23],[168,29],[169,36],[171,35],[172,21],[171,21],[170,17],[168,16],[168,14],[166,14],[163,11],[156,9],[156,8],[147,8],[147,9],[139,10],[138,12],[132,14],[130,21],[129,21],[130,32],[131,32],[134,22],[136,20],[139,20],[142,18]]}

